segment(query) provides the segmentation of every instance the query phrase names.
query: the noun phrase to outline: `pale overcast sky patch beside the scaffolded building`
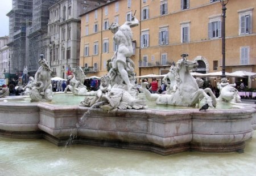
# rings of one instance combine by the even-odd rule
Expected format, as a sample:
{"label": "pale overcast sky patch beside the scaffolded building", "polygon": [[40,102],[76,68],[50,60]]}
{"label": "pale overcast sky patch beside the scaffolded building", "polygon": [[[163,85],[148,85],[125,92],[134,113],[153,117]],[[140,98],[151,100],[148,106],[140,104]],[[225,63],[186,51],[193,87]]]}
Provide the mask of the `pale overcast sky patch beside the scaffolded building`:
{"label": "pale overcast sky patch beside the scaffolded building", "polygon": [[12,0],[1,0],[0,3],[0,37],[9,36],[9,17],[6,16],[11,11]]}

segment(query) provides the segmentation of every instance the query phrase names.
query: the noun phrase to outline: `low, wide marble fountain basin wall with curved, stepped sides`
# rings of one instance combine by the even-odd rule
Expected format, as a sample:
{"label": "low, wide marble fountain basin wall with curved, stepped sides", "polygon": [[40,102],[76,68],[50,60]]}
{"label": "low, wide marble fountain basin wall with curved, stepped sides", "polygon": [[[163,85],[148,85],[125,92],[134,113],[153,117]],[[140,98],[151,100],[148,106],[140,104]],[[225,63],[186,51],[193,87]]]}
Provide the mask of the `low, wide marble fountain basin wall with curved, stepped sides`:
{"label": "low, wide marble fountain basin wall with curved, stepped sides", "polygon": [[[168,155],[183,151],[242,152],[245,141],[256,130],[255,105],[240,104],[236,108],[207,111],[164,106],[162,109],[149,107],[108,112],[78,106],[84,96],[74,96],[75,100],[70,98],[73,95],[65,95],[68,99],[61,96],[64,95],[60,95],[59,100],[53,98],[50,103],[32,103],[26,101],[29,97],[21,96],[1,98],[0,135],[44,138],[56,145],[65,145],[70,136],[75,136],[72,144]],[[63,100],[73,105],[61,103]],[[88,110],[90,113],[82,118],[84,125],[77,128]]]}

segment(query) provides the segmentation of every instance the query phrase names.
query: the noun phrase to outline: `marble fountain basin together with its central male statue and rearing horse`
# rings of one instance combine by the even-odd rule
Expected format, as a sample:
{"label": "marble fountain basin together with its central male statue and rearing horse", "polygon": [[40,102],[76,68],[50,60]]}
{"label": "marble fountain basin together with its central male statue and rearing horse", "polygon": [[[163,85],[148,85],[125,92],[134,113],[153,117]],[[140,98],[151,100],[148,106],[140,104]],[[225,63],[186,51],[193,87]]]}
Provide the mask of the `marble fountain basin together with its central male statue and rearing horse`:
{"label": "marble fountain basin together with its central male statue and rearing horse", "polygon": [[[185,151],[242,152],[245,141],[256,129],[255,105],[234,104],[230,109],[209,108],[207,111],[194,108],[202,101],[212,107],[220,102],[217,103],[210,89],[200,89],[188,74],[197,62],[189,61],[187,54],[181,55],[177,62],[174,91],[159,96],[143,90],[147,99],[167,109],[146,108],[146,98],[135,89],[134,63],[130,59],[133,53],[130,27],[136,25],[135,17],[121,27],[110,25],[119,47],[111,59],[108,75],[102,77],[110,82],[104,82],[102,89],[94,92],[95,97],[86,96],[80,106],[46,101],[10,103],[9,98],[2,98],[0,134],[12,138],[44,138],[56,145],[65,145],[72,136],[72,144],[136,149],[162,155]],[[120,36],[125,37],[127,33],[129,40],[123,45]],[[178,108],[171,109],[170,105]],[[78,124],[82,125],[77,127]]]}

